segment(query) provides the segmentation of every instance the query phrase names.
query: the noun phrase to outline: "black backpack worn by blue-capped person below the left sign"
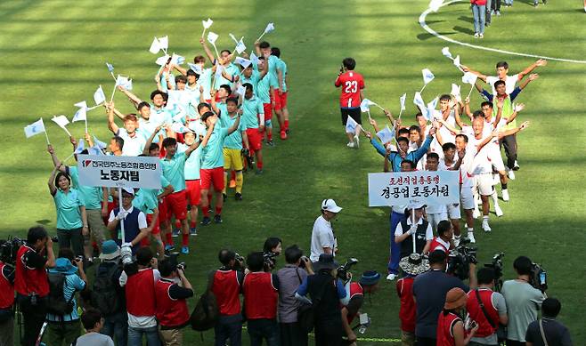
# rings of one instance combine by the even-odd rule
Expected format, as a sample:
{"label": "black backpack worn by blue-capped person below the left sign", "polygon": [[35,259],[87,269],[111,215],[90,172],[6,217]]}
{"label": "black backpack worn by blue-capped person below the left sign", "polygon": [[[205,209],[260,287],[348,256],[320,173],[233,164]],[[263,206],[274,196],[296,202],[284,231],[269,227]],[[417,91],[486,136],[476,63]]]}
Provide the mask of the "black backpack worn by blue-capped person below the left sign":
{"label": "black backpack worn by blue-capped person below the left sign", "polygon": [[118,264],[114,264],[108,270],[98,268],[96,272],[91,305],[100,310],[103,316],[109,316],[120,310],[120,297],[114,284],[114,275],[119,269]]}

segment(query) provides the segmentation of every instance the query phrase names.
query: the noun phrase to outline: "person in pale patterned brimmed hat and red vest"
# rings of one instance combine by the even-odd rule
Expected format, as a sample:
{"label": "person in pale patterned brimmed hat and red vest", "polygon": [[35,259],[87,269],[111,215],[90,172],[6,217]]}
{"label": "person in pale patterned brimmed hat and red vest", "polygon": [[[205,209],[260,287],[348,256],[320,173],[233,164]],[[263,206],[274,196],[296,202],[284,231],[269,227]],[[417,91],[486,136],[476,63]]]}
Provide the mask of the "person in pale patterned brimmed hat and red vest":
{"label": "person in pale patterned brimmed hat and red vest", "polygon": [[415,278],[429,270],[427,258],[419,253],[411,253],[409,257],[403,257],[399,262],[399,268],[403,271],[403,278],[397,280],[396,290],[401,299],[399,319],[401,319],[401,342],[403,346],[415,344],[415,298],[413,297],[413,281]]}

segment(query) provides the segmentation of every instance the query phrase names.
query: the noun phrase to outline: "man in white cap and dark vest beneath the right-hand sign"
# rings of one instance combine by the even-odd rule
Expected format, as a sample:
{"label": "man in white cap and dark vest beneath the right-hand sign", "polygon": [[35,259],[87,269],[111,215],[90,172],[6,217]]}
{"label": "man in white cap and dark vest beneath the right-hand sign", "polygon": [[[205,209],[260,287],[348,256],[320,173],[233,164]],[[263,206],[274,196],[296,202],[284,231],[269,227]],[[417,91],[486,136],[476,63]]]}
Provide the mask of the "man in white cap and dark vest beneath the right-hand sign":
{"label": "man in white cap and dark vest beneath the right-hand sign", "polygon": [[[423,219],[424,207],[425,205],[422,204],[409,205],[409,210],[405,211],[405,220],[399,222],[395,229],[395,241],[401,243],[401,258],[413,252],[423,254],[429,251],[434,233],[431,224]],[[415,241],[415,251],[413,251],[413,241]]]}

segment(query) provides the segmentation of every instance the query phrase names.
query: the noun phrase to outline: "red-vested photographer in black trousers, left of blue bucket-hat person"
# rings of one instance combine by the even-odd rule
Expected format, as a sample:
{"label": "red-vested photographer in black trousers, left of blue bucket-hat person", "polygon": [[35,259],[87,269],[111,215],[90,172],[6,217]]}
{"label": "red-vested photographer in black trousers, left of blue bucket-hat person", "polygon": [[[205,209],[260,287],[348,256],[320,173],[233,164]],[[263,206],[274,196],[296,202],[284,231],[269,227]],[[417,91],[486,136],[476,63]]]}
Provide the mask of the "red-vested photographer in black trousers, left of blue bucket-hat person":
{"label": "red-vested photographer in black trousers, left of blue bucket-hat person", "polygon": [[28,229],[27,243],[20,246],[16,253],[14,278],[14,289],[24,319],[23,346],[35,345],[45,322],[46,297],[49,294],[45,269],[54,266],[53,240],[47,236],[47,231],[41,226]]}

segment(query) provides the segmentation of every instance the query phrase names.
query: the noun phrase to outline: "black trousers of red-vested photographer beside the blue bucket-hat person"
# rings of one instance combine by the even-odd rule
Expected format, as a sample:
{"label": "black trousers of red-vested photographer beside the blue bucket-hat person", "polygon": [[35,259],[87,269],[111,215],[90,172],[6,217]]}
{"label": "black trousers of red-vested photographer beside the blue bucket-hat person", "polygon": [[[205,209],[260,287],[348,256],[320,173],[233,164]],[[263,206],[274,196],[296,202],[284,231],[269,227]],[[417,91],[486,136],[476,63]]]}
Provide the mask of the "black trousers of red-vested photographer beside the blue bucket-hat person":
{"label": "black trousers of red-vested photographer beside the blue bucket-hat person", "polygon": [[37,297],[35,304],[30,302],[27,295],[18,294],[17,300],[24,320],[22,346],[35,346],[38,334],[41,331],[45,317],[47,315],[46,297]]}

